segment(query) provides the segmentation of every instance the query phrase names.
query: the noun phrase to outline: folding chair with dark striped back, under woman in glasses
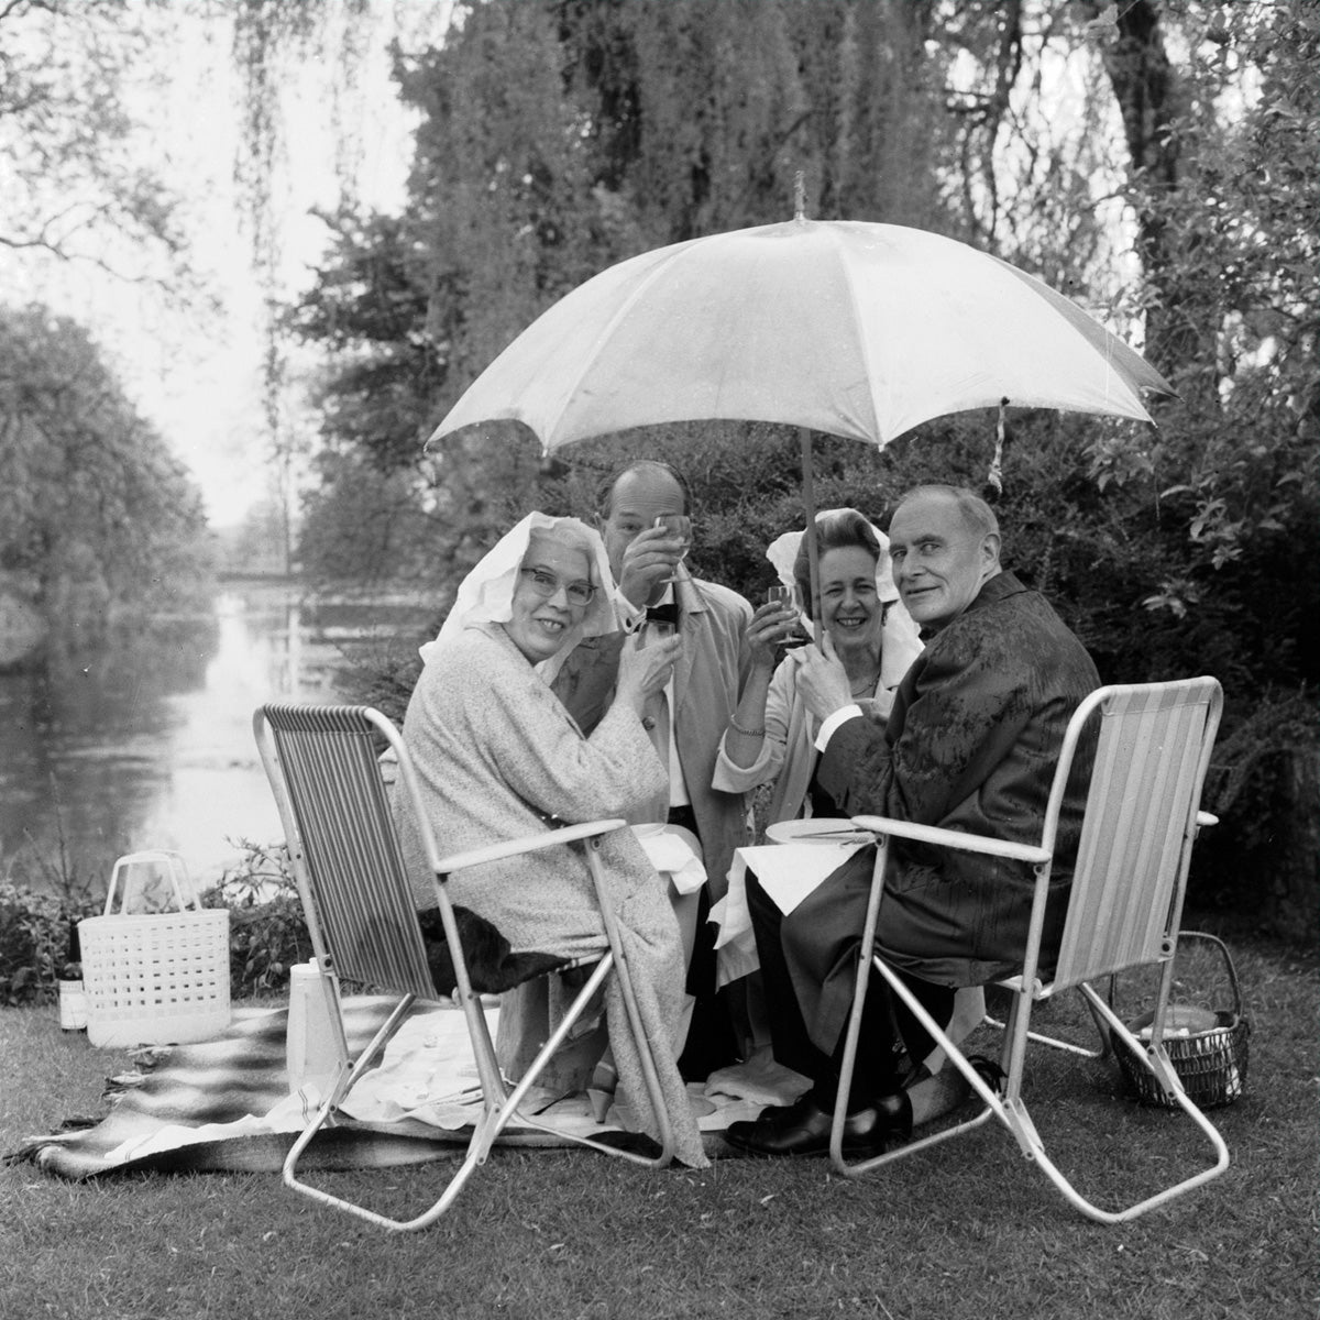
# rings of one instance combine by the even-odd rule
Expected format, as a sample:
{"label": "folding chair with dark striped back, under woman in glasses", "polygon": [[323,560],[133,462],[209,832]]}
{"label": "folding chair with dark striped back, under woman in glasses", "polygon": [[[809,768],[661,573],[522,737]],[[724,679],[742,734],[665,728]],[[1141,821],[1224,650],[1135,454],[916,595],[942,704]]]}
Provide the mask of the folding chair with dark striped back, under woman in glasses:
{"label": "folding chair with dark striped back, under woman in glasses", "polygon": [[[454,1203],[474,1170],[486,1162],[496,1138],[517,1115],[520,1126],[553,1131],[607,1155],[630,1159],[648,1167],[661,1167],[672,1158],[672,1138],[665,1118],[651,1047],[642,1030],[632,993],[632,981],[620,950],[618,925],[602,884],[599,840],[611,830],[626,829],[622,820],[601,820],[569,825],[528,838],[510,840],[453,857],[441,857],[430,832],[417,775],[399,730],[379,710],[367,706],[267,705],[253,715],[253,730],[267,777],[275,793],[284,825],[289,859],[312,936],[322,977],[330,1020],[337,1034],[339,1068],[335,1082],[315,1117],[289,1151],[284,1181],[298,1192],[347,1210],[368,1222],[393,1230],[422,1229],[434,1224]],[[412,887],[395,834],[385,784],[378,754],[389,747],[399,762],[396,792],[412,796],[430,869],[434,873],[438,906],[447,952],[453,960],[453,998],[466,1016],[469,1038],[482,1088],[482,1106],[466,1155],[440,1200],[412,1220],[395,1220],[362,1205],[310,1187],[297,1176],[297,1164],[313,1137],[342,1105],[356,1081],[380,1057],[403,1024],[416,999],[446,997],[432,978],[430,965],[417,920]],[[536,853],[546,847],[577,845],[585,853],[606,929],[607,944],[599,956],[565,961],[553,974],[573,972],[573,985],[581,989],[562,1022],[546,1040],[525,1076],[511,1088],[495,1060],[490,1030],[482,1007],[483,987],[465,957],[459,923],[449,900],[446,880],[454,871],[500,858]],[[461,912],[462,909],[459,909]],[[544,965],[535,974],[545,974]],[[652,1111],[660,1122],[660,1151],[643,1155],[603,1144],[589,1137],[550,1127],[520,1110],[524,1096],[535,1085],[545,1064],[566,1039],[573,1024],[597,998],[610,975],[618,977],[627,1010],[628,1027],[642,1056]],[[339,1011],[339,978],[399,994],[400,1002],[380,1031],[356,1060],[350,1059]],[[444,987],[447,991],[449,987]]]}

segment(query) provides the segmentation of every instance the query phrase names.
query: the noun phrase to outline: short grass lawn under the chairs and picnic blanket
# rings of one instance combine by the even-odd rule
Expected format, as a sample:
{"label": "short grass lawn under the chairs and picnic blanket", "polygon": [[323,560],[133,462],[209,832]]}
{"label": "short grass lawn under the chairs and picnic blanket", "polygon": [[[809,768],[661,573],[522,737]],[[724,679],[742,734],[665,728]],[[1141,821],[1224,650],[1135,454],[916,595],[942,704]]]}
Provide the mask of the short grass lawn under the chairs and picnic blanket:
{"label": "short grass lawn under the chairs and picnic blanket", "polygon": [[[21,1164],[0,1171],[0,1316],[1313,1317],[1320,975],[1309,954],[1232,946],[1250,1071],[1212,1117],[1233,1164],[1133,1224],[1077,1216],[997,1125],[861,1181],[825,1160],[651,1173],[499,1151],[436,1228],[407,1236],[275,1173],[70,1184]],[[100,1114],[103,1078],[129,1067],[62,1034],[54,1006],[0,1010],[0,1151]],[[1034,1113],[1085,1189],[1133,1200],[1201,1167],[1184,1119],[1115,1098],[1113,1064],[1036,1060]],[[442,1168],[317,1180],[417,1213]]]}

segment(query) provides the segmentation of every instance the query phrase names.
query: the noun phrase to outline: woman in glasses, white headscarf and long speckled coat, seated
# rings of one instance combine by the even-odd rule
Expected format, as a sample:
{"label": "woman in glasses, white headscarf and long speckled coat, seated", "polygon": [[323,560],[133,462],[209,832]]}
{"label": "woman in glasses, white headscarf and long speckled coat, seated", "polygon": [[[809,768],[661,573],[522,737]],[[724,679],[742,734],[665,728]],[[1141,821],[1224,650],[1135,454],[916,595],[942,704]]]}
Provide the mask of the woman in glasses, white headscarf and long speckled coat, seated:
{"label": "woman in glasses, white headscarf and long speckled coat, seated", "polygon": [[[583,636],[615,630],[612,591],[599,535],[577,519],[543,513],[519,523],[459,587],[440,636],[422,648],[425,667],[403,730],[442,851],[536,834],[548,824],[624,817],[664,791],[665,771],[642,710],[664,686],[677,640],[630,648],[614,701],[590,738],[550,690],[564,657]],[[429,873],[405,808],[399,828],[421,903]],[[631,830],[606,836],[601,861],[647,1035],[672,1041],[684,1005],[684,961],[665,888]],[[569,845],[458,871],[449,891],[492,928],[482,941],[484,956],[510,969],[510,985],[536,960],[548,965],[602,948],[605,929],[586,861]],[[424,911],[424,929],[426,917]],[[513,1078],[545,1039],[546,1015],[549,1022],[556,1016],[561,990],[552,978],[546,1003],[545,986],[528,982],[504,997],[496,1048]],[[607,987],[606,1027],[622,1012],[616,981]],[[653,1131],[640,1060],[626,1032],[610,1034],[609,1044],[622,1105]],[[570,1040],[543,1074],[545,1098],[586,1088],[605,1045],[603,1031]],[[657,1053],[664,1056],[660,1082],[677,1155],[704,1164],[677,1067],[664,1051]]]}

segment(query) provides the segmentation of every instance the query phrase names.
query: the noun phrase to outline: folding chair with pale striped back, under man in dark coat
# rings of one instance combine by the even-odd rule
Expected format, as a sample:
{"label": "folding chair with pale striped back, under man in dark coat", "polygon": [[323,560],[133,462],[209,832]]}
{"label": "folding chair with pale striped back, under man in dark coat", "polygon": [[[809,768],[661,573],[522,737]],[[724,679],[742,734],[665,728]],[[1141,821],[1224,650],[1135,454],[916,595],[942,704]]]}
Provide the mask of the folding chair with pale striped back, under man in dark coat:
{"label": "folding chair with pale striped back, under man in dark coat", "polygon": [[[1209,1181],[1228,1168],[1229,1154],[1224,1139],[1187,1096],[1163,1044],[1192,843],[1200,826],[1216,824],[1213,816],[1199,808],[1222,701],[1222,690],[1214,678],[1110,686],[1092,693],[1077,708],[1069,722],[1041,824],[1039,846],[1007,843],[879,816],[854,817],[854,825],[875,833],[878,847],[859,953],[857,990],[845,1038],[842,1085],[832,1134],[830,1154],[841,1173],[855,1177],[879,1164],[948,1140],[991,1117],[1008,1129],[1023,1155],[1044,1171],[1073,1206],[1104,1224],[1134,1218]],[[1059,812],[1078,744],[1082,739],[1092,738],[1096,747],[1094,766],[1063,942],[1053,969],[1043,969],[1040,939]],[[969,1063],[962,1051],[917,1003],[892,968],[875,956],[875,927],[884,887],[890,838],[916,840],[987,857],[1015,858],[1030,862],[1035,870],[1035,898],[1022,973],[997,982],[1012,995],[1012,1008],[999,1060],[1005,1072],[1002,1086],[994,1086]],[[1092,985],[1117,972],[1143,966],[1160,969],[1148,1041],[1138,1040]],[[1041,979],[1043,970],[1048,972],[1048,979]],[[944,1047],[983,1107],[966,1122],[932,1133],[883,1155],[849,1163],[842,1152],[843,1117],[857,1057],[862,1006],[873,972],[884,977],[894,994],[903,999],[927,1031]],[[1077,1049],[1077,1052],[1096,1057],[1106,1051],[1111,1038],[1123,1041],[1134,1057],[1150,1069],[1170,1101],[1170,1107],[1181,1109],[1209,1139],[1214,1150],[1213,1167],[1203,1168],[1125,1208],[1106,1210],[1082,1196],[1049,1159],[1022,1097],[1027,1043],[1031,1039],[1063,1048],[1077,1047],[1049,1036],[1039,1036],[1031,1032],[1028,1026],[1034,1003],[1072,987],[1085,995],[1092,1016],[1101,1030],[1100,1049],[1094,1052]]]}

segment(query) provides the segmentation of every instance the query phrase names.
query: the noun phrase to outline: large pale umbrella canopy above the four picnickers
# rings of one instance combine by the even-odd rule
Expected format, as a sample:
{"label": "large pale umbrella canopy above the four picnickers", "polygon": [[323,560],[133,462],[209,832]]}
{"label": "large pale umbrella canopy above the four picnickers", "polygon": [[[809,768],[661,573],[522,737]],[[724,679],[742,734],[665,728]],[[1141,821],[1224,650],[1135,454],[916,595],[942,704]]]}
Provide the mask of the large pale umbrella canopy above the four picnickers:
{"label": "large pale umbrella canopy above the four picnickers", "polygon": [[515,418],[546,454],[631,426],[787,422],[883,447],[970,408],[1150,421],[1163,376],[998,257],[898,224],[793,219],[656,248],[579,285],[430,440]]}

